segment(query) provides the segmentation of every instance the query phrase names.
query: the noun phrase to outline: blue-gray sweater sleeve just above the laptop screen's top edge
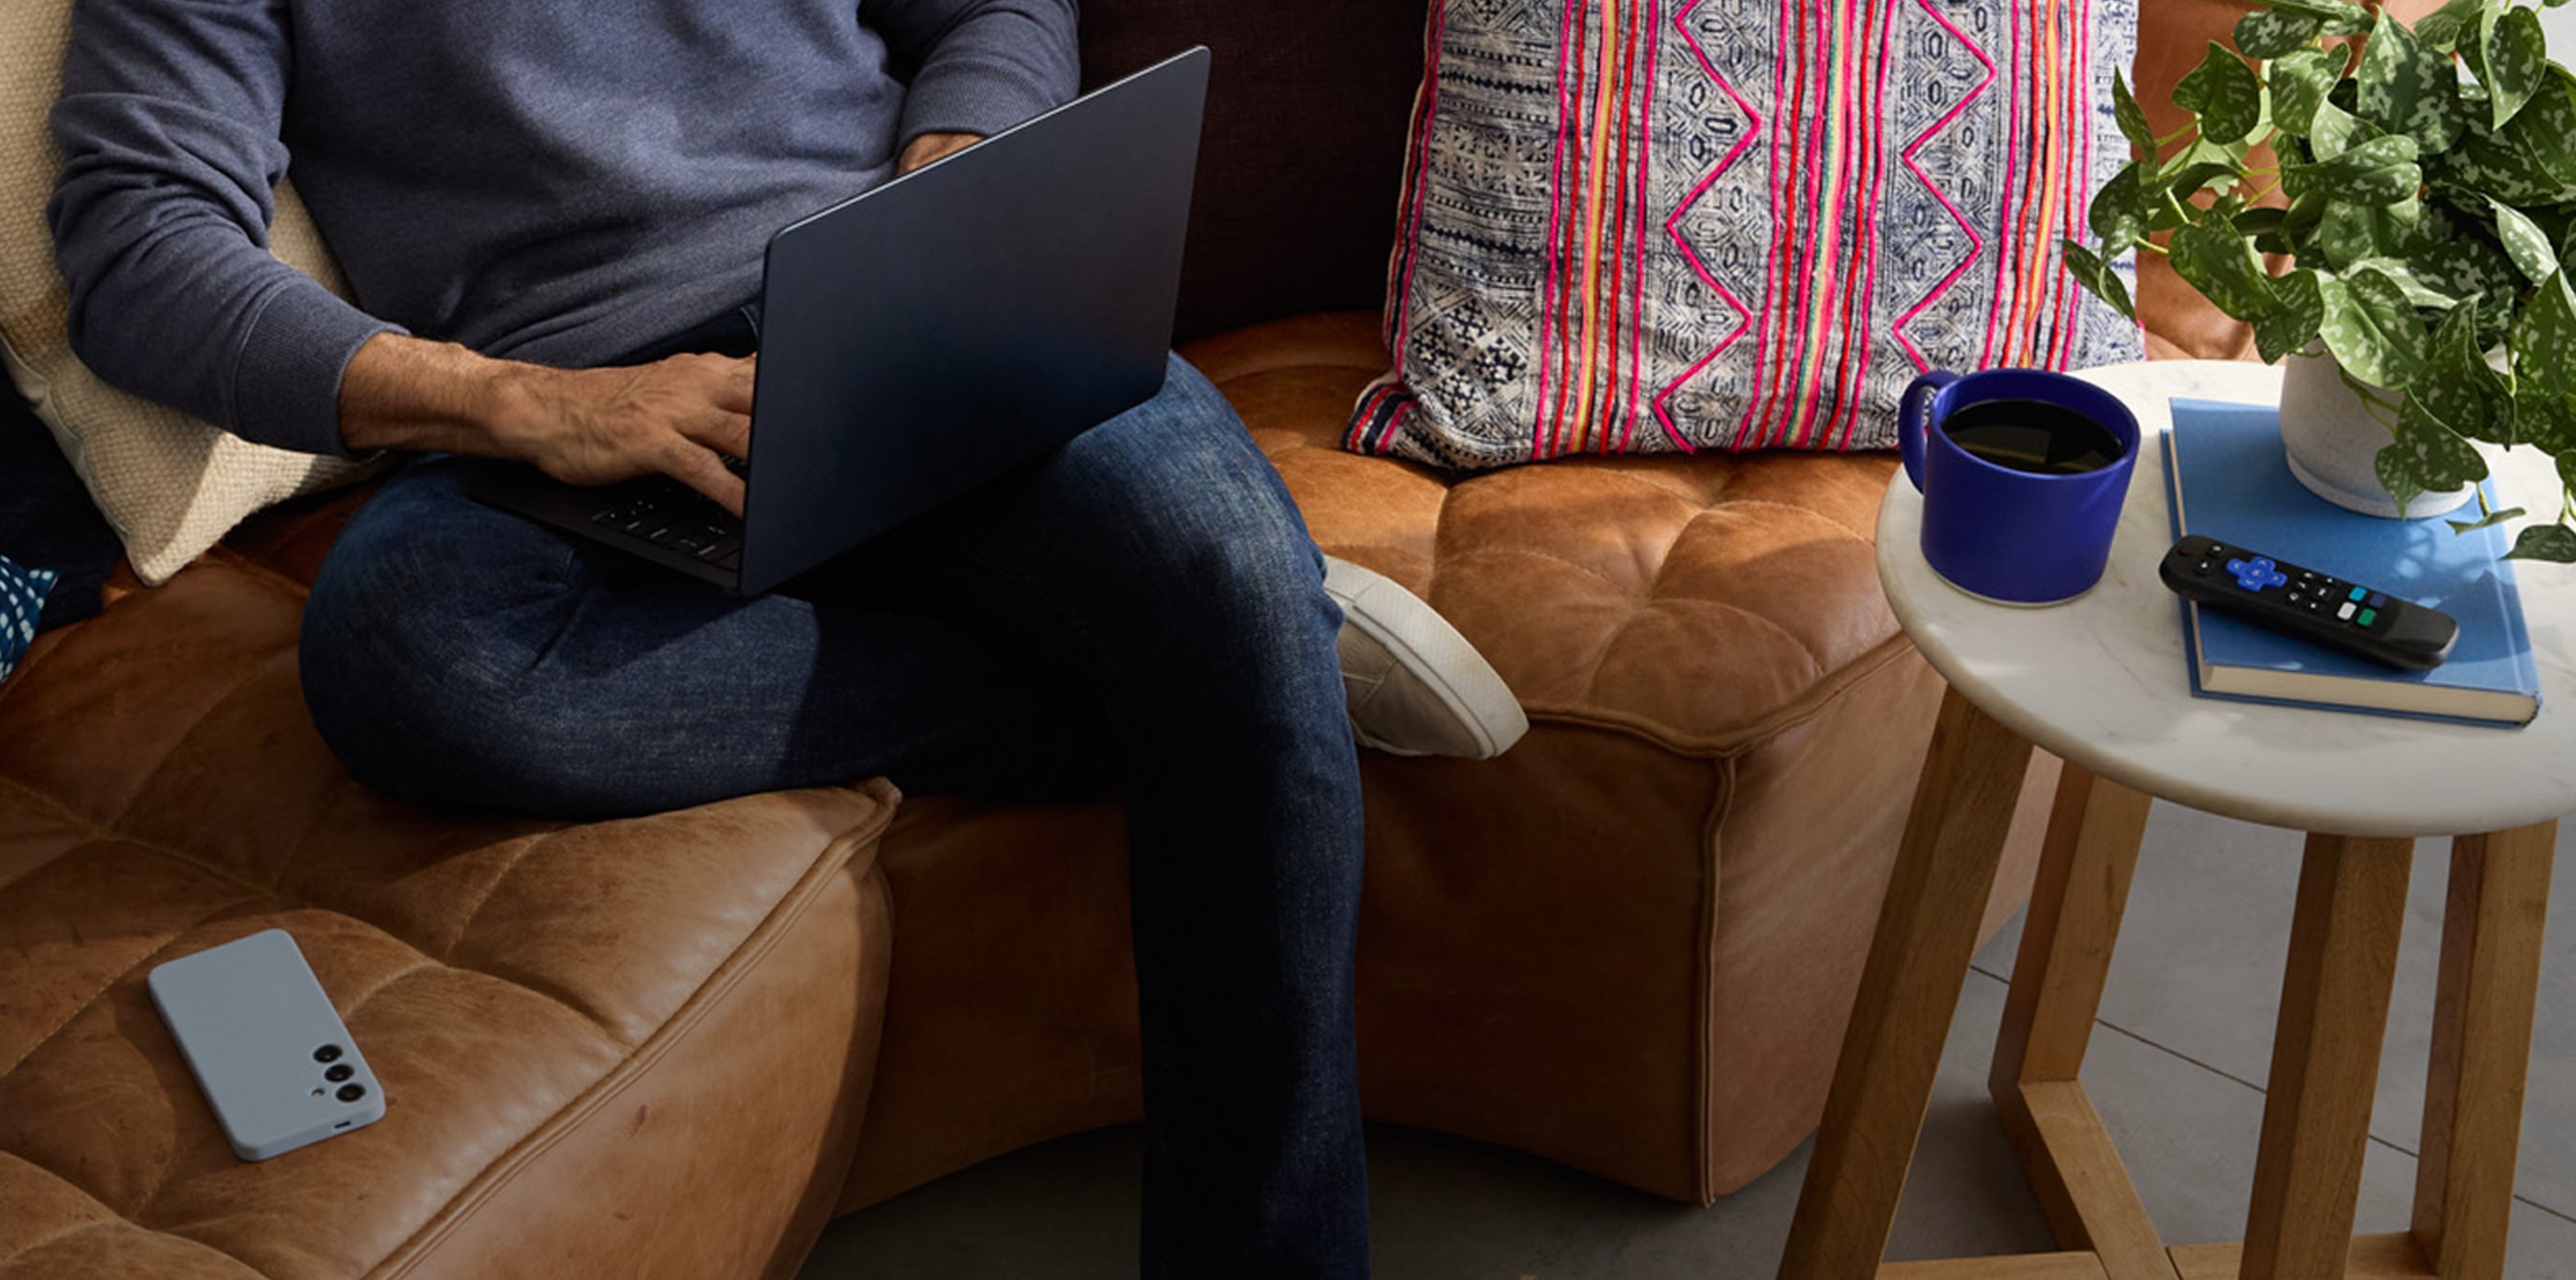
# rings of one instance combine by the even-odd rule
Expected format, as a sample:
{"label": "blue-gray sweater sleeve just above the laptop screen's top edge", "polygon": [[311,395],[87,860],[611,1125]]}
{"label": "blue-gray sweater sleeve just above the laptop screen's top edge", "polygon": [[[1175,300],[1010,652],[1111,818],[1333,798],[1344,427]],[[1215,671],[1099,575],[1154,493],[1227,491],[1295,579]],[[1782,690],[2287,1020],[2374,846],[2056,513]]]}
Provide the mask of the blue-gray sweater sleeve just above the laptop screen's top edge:
{"label": "blue-gray sweater sleeve just above the laptop screen's top edge", "polygon": [[922,134],[999,134],[1074,100],[1074,0],[866,0],[912,70],[896,147]]}

